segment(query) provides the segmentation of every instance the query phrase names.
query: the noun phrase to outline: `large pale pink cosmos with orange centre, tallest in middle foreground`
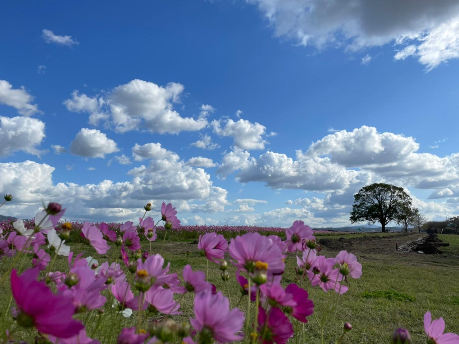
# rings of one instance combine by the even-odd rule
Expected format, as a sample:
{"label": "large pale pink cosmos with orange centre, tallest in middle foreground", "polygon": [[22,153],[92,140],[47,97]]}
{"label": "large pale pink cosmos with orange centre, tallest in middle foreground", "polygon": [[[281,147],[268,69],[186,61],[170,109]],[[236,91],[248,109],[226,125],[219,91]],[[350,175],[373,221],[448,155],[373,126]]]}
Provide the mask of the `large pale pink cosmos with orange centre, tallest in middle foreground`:
{"label": "large pale pink cosmos with orange centre, tallest in middle foreground", "polygon": [[279,246],[257,232],[231,239],[229,255],[236,260],[234,266],[249,273],[255,272],[257,265],[265,268],[268,274],[280,275],[285,270]]}

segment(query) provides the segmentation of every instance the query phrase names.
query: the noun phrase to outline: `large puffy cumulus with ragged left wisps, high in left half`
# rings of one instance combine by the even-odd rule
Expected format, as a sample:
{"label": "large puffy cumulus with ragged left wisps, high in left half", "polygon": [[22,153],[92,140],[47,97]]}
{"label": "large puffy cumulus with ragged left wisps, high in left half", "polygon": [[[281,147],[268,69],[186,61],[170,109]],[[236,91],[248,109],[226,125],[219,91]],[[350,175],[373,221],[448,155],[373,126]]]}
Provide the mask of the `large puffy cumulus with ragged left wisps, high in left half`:
{"label": "large puffy cumulus with ragged left wisps, high in left half", "polygon": [[204,116],[197,119],[181,117],[174,110],[174,103],[179,103],[183,91],[184,86],[180,83],[159,86],[135,79],[115,87],[103,98],[74,91],[72,99],[64,104],[69,111],[90,113],[91,124],[102,121],[119,133],[147,130],[163,134],[201,130],[207,126]]}

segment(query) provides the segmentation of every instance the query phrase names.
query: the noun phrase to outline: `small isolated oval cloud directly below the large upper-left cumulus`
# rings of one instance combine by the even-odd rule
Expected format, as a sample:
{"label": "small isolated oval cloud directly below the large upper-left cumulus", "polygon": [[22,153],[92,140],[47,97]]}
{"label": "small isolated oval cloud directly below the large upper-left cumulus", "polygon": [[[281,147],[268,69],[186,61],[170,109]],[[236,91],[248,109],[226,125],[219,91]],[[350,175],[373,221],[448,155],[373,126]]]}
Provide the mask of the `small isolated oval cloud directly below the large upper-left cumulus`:
{"label": "small isolated oval cloud directly below the large upper-left cumulus", "polygon": [[70,143],[70,153],[88,158],[105,158],[118,151],[116,142],[97,129],[82,128]]}

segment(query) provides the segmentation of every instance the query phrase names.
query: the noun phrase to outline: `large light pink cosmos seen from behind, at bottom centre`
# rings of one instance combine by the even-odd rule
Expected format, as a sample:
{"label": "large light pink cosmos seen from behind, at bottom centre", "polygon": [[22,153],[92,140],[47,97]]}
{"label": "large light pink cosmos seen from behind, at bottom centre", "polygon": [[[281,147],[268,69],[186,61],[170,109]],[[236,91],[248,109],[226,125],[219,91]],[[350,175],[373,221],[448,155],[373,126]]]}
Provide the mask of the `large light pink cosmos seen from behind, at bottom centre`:
{"label": "large light pink cosmos seen from behind, at bottom centre", "polygon": [[242,328],[244,313],[237,308],[229,310],[229,301],[222,293],[212,294],[207,290],[196,294],[194,310],[195,318],[190,318],[190,322],[202,342],[212,342],[213,338],[229,343],[243,338],[235,333]]}

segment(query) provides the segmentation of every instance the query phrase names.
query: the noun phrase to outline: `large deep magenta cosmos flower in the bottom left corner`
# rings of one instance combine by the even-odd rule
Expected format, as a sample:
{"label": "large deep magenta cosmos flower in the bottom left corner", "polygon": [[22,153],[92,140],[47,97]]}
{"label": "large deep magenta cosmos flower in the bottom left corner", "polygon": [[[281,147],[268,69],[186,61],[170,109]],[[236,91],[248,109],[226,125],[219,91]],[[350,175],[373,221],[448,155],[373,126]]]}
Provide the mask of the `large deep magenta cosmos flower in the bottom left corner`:
{"label": "large deep magenta cosmos flower in the bottom left corner", "polygon": [[38,275],[37,268],[28,269],[21,276],[17,276],[16,270],[11,272],[11,290],[19,311],[17,322],[59,338],[77,335],[84,326],[72,318],[72,301],[53,294],[45,283],[36,280]]}

